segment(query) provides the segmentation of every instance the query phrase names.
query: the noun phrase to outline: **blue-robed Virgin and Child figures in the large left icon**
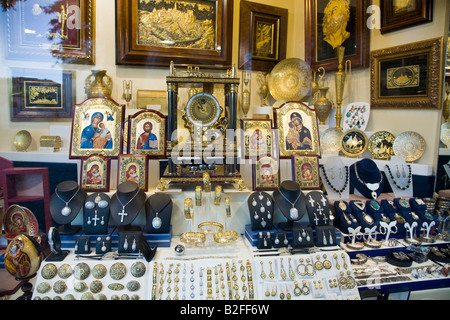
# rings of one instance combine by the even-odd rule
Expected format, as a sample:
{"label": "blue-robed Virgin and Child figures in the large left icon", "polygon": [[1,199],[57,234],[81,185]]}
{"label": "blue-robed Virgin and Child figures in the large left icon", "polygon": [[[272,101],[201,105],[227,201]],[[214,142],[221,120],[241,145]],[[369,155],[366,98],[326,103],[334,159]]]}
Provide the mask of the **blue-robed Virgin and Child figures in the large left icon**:
{"label": "blue-robed Virgin and Child figures in the large left icon", "polygon": [[81,132],[81,149],[112,149],[111,132],[103,122],[103,114],[95,112],[91,116],[91,124]]}

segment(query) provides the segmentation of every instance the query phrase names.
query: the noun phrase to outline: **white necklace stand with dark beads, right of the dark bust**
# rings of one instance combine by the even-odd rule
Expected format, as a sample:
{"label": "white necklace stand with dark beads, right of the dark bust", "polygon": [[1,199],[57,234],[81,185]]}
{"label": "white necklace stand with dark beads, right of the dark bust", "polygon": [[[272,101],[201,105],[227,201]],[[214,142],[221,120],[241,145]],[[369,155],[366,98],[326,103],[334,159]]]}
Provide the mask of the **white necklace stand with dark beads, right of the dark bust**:
{"label": "white necklace stand with dark beads, right of the dark bust", "polygon": [[411,165],[406,163],[403,156],[392,156],[384,172],[395,197],[413,196]]}

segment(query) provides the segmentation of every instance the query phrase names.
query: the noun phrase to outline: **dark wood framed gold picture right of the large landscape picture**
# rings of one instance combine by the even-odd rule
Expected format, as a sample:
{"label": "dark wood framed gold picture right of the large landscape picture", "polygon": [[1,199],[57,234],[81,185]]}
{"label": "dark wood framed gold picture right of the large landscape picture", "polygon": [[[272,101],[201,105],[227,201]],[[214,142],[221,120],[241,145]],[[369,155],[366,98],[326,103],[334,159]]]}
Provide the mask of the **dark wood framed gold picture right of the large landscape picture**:
{"label": "dark wood framed gold picture right of the large landscape picture", "polygon": [[286,58],[288,10],[241,1],[239,69],[270,72]]}

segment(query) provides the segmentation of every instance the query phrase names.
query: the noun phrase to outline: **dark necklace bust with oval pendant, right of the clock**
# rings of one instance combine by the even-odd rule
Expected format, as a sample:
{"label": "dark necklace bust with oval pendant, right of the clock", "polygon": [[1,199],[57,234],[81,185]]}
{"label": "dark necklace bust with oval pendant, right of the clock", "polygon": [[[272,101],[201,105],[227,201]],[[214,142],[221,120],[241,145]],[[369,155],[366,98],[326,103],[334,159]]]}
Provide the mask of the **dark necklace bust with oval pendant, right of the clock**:
{"label": "dark necklace bust with oval pendant, right of the clock", "polygon": [[294,222],[301,220],[306,213],[306,197],[300,184],[290,180],[283,181],[273,192],[273,199],[288,220],[279,223],[279,227],[283,230],[292,230],[295,227]]}

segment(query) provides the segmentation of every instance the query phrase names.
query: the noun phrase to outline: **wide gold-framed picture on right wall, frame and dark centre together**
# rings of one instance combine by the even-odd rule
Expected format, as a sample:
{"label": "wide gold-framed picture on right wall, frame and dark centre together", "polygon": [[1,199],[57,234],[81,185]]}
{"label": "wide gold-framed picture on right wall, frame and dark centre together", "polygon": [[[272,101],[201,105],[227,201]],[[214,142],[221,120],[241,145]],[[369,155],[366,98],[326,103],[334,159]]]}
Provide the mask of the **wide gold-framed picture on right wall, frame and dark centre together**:
{"label": "wide gold-framed picture on right wall, frame and dark centre together", "polygon": [[371,52],[372,108],[440,109],[443,38]]}

